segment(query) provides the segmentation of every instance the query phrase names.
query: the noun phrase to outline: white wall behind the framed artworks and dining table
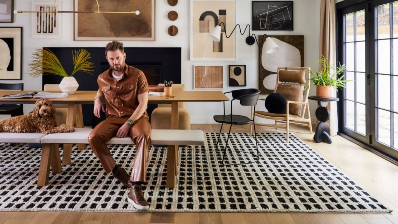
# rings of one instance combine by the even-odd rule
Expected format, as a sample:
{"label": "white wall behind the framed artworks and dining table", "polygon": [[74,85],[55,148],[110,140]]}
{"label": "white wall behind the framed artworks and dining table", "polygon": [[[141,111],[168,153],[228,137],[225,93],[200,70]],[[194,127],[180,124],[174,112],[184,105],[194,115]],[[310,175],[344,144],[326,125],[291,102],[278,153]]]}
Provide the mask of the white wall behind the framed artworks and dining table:
{"label": "white wall behind the framed artworks and dining table", "polygon": [[[62,2],[62,10],[73,10],[72,0],[58,0]],[[156,41],[123,41],[125,47],[181,47],[182,57],[182,77],[181,81],[185,84],[187,90],[193,88],[193,65],[223,65],[224,66],[224,92],[237,89],[237,87],[228,87],[228,65],[243,64],[247,65],[247,88],[258,88],[258,47],[249,46],[245,39],[247,35],[236,35],[236,61],[189,61],[189,12],[190,1],[180,0],[176,6],[169,6],[166,0],[156,1]],[[246,26],[251,24],[252,1],[236,0],[236,23]],[[95,1],[93,2],[93,4]],[[14,9],[31,10],[31,1],[14,0]],[[170,10],[178,12],[176,21],[170,21],[167,14]],[[319,55],[319,0],[295,0],[294,1],[294,31],[268,31],[268,35],[304,35],[304,66],[318,69],[314,64]],[[62,37],[58,39],[31,38],[32,33],[32,15],[17,14],[14,15],[13,24],[1,24],[1,26],[22,26],[23,27],[23,73],[27,73],[27,64],[30,61],[33,50],[37,47],[105,47],[109,41],[73,41],[73,17],[72,14],[62,14]],[[167,28],[171,25],[178,27],[178,35],[172,37],[168,35]],[[253,31],[257,35],[263,34],[263,31]],[[129,55],[127,55],[129,57]],[[99,74],[98,74],[99,75]],[[21,81],[4,81],[2,83],[20,83]],[[32,79],[23,75],[22,82],[25,90],[41,89],[41,78]],[[314,86],[311,86],[310,94],[315,93]],[[186,107],[191,113],[191,123],[206,124],[213,123],[213,115],[222,114],[222,103],[220,102],[195,102],[187,103]],[[32,110],[32,105],[24,106],[25,113]],[[235,106],[234,106],[235,108]],[[315,121],[316,103],[310,102],[311,117]],[[263,101],[259,101],[258,110],[265,110]],[[242,107],[236,104],[234,114],[249,116],[250,108]],[[0,117],[1,118],[1,117]],[[268,121],[269,122],[269,121]]]}

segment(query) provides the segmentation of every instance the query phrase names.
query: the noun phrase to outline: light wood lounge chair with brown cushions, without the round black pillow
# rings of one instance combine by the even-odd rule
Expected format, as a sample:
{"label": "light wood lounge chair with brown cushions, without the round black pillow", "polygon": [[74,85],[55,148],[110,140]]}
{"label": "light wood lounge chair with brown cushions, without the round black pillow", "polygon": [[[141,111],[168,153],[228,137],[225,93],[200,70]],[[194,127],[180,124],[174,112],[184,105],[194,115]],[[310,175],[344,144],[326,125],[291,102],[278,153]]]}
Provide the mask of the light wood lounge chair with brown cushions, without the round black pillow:
{"label": "light wood lounge chair with brown cushions, without the round black pillow", "polygon": [[[310,107],[308,105],[310,88],[303,92],[304,85],[308,84],[309,86],[310,84],[309,70],[310,68],[306,67],[278,67],[274,92],[278,92],[286,98],[286,111],[289,111],[289,113],[273,114],[255,111],[254,116],[275,120],[275,125],[257,122],[256,125],[286,129],[286,142],[289,142],[289,124],[306,126],[310,128],[312,134]],[[259,100],[265,100],[265,98],[259,98]],[[307,112],[307,117],[305,117],[305,112]],[[285,123],[286,126],[278,126],[278,122]],[[250,136],[252,136],[252,126],[253,122],[250,124]]]}

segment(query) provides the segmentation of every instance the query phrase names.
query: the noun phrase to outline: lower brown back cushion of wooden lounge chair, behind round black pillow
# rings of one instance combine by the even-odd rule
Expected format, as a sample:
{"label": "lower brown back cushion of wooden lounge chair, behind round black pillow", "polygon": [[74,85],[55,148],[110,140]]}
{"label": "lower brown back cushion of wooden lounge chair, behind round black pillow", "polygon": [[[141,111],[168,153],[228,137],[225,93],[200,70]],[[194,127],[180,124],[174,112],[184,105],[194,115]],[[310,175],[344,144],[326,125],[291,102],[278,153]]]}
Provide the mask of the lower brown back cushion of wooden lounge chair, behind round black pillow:
{"label": "lower brown back cushion of wooden lounge chair, behind round black pillow", "polygon": [[[281,71],[279,71],[281,72]],[[302,102],[304,86],[291,86],[279,84],[275,92],[279,92],[286,100]],[[289,114],[300,116],[301,105],[289,104]]]}

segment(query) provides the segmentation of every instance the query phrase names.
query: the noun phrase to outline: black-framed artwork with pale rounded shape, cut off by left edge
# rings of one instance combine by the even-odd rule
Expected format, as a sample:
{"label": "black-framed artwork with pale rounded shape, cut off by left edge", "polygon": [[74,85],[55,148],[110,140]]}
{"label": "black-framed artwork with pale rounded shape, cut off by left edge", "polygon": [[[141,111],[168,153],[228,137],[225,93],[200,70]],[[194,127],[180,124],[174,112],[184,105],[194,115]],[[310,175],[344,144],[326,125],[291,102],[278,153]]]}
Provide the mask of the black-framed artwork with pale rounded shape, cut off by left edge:
{"label": "black-framed artwork with pale rounded shape, cut off by left edge", "polygon": [[0,27],[0,79],[22,79],[22,27]]}

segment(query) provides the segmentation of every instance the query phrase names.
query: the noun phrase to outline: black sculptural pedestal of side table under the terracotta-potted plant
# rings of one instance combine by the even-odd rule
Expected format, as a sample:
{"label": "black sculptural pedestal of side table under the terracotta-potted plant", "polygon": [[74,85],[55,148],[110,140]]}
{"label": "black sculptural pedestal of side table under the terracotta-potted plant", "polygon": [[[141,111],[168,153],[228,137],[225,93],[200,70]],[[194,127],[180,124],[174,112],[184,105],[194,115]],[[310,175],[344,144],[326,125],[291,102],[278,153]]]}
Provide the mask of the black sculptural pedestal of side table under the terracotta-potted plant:
{"label": "black sculptural pedestal of side table under the terracotta-potted plant", "polygon": [[318,125],[316,125],[314,141],[316,143],[326,142],[331,144],[332,139],[330,138],[330,128],[328,124],[330,112],[327,107],[324,107],[320,101],[318,101],[319,107],[315,111],[316,119],[319,120]]}

